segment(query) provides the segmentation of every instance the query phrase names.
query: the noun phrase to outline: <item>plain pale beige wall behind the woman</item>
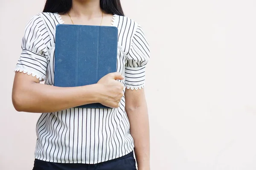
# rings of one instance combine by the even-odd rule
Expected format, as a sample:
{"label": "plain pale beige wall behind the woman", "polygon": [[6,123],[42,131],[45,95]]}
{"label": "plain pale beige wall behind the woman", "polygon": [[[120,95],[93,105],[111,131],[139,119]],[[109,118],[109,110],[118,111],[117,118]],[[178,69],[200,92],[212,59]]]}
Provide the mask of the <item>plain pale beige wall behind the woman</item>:
{"label": "plain pale beige wall behind the woman", "polygon": [[[121,0],[151,45],[152,170],[256,169],[256,1]],[[44,0],[0,0],[0,170],[33,165],[39,114],[17,113],[13,69]]]}

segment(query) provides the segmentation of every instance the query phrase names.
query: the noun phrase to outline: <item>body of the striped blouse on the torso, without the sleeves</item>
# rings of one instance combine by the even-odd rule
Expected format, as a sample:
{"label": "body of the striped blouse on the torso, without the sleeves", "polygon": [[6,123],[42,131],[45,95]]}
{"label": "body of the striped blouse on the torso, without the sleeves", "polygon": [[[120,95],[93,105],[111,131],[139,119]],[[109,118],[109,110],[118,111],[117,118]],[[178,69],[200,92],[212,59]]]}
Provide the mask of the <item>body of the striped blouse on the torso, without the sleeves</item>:
{"label": "body of the striped blouse on the torso, without the sleeves", "polygon": [[[54,85],[55,28],[63,24],[56,13],[35,16],[42,39],[47,46],[48,63],[45,84]],[[117,71],[125,74],[126,55],[137,23],[113,15],[110,26],[118,28]],[[121,81],[124,83],[124,81]],[[125,84],[125,83],[124,83]],[[130,124],[125,112],[125,98],[116,109],[70,108],[42,113],[36,124],[35,158],[58,163],[95,164],[118,158],[134,148]]]}

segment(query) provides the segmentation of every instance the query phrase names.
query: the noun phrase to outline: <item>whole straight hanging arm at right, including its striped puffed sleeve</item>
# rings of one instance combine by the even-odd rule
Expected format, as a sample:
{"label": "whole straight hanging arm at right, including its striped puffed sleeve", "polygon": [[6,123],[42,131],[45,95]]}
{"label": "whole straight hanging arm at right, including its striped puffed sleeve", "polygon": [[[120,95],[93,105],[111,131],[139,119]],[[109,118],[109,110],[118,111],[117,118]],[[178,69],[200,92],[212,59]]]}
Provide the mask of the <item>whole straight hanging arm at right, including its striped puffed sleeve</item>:
{"label": "whole straight hanging arm at right, including its striped puffed sleeve", "polygon": [[135,156],[139,170],[149,170],[149,125],[144,94],[145,66],[150,58],[148,42],[137,24],[125,64],[125,110],[134,138]]}

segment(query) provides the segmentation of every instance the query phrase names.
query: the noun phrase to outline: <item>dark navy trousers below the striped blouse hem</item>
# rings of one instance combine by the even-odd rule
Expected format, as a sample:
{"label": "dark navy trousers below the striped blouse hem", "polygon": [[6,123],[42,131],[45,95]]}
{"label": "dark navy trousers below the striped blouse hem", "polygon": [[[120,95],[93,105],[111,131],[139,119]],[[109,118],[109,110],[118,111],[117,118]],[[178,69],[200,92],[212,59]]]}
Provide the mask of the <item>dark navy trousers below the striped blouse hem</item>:
{"label": "dark navy trousers below the striped blouse hem", "polygon": [[99,164],[64,164],[35,159],[33,170],[136,170],[133,152]]}

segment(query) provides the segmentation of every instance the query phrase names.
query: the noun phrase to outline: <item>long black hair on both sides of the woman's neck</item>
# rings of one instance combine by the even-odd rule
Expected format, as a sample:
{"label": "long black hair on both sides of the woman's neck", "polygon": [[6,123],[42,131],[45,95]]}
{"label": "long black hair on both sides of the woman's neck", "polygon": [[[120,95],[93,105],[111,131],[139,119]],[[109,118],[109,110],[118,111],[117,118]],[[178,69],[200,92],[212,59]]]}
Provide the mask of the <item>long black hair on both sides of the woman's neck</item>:
{"label": "long black hair on both sides of the woman's neck", "polygon": [[[46,0],[43,12],[66,14],[71,7],[72,0]],[[100,8],[107,14],[125,16],[120,0],[100,0]]]}

